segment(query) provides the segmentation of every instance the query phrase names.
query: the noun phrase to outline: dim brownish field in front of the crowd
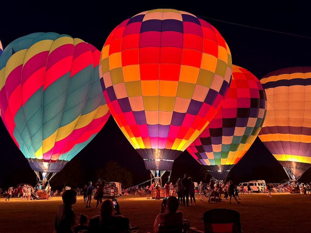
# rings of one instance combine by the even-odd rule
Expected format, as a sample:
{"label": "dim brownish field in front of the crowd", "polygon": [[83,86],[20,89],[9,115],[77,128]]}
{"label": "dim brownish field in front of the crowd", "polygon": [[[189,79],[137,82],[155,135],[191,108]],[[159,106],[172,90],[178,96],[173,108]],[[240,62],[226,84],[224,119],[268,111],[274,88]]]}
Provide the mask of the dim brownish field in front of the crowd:
{"label": "dim brownish field in front of the crowd", "polygon": [[[191,226],[203,230],[203,213],[212,208],[229,208],[239,211],[241,226],[244,233],[248,232],[310,232],[311,198],[301,197],[301,194],[272,194],[268,198],[265,194],[241,195],[241,203],[222,200],[220,203],[201,202],[196,196],[196,206],[180,207],[184,218]],[[152,232],[156,215],[160,211],[160,200],[147,200],[140,196],[121,196],[118,198],[120,209],[124,217],[130,219],[132,226],[139,226],[140,232]],[[0,232],[25,232],[33,229],[36,233],[53,232],[56,210],[62,203],[61,197],[50,200],[27,201],[12,198],[9,202],[0,198]],[[86,214],[89,218],[98,214],[95,201],[92,208],[85,208],[83,197],[78,196],[73,209],[78,216]]]}

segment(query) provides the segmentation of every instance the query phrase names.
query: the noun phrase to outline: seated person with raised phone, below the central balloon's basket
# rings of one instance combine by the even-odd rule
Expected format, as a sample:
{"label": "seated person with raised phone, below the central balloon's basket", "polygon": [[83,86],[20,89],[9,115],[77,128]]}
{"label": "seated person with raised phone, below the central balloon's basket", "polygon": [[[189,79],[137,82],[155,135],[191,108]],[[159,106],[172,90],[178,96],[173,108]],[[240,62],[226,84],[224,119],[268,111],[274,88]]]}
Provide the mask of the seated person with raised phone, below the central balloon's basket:
{"label": "seated person with raised phone, below the central balloon's basket", "polygon": [[183,212],[177,211],[178,207],[178,199],[175,196],[170,196],[167,199],[166,205],[164,205],[162,202],[160,213],[156,216],[155,222],[153,224],[153,233],[158,233],[158,227],[161,222],[172,223],[180,222],[183,220]]}

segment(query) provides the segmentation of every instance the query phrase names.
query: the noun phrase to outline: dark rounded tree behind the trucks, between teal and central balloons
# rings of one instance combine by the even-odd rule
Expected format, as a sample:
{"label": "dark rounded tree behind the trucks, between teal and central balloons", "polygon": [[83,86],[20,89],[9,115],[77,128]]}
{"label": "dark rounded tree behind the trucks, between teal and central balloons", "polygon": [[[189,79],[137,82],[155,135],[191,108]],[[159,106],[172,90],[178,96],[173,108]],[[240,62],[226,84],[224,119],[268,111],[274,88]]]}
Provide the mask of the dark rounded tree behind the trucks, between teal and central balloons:
{"label": "dark rounded tree behind the trucks, between teal and central balloons", "polygon": [[97,178],[106,182],[120,182],[122,187],[132,186],[132,173],[116,161],[108,161],[104,168],[97,171]]}

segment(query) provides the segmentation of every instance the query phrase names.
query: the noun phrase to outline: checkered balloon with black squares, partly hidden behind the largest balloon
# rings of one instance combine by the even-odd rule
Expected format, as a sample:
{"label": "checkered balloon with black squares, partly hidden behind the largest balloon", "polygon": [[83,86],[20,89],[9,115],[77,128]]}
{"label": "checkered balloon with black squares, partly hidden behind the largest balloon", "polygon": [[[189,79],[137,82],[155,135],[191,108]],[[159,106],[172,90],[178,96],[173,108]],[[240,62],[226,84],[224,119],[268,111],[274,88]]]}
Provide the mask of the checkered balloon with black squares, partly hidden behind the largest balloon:
{"label": "checkered balloon with black squares, partly hidden behind the largest balloon", "polygon": [[222,107],[188,152],[216,180],[224,180],[256,139],[266,109],[259,80],[248,70],[232,65],[230,88]]}

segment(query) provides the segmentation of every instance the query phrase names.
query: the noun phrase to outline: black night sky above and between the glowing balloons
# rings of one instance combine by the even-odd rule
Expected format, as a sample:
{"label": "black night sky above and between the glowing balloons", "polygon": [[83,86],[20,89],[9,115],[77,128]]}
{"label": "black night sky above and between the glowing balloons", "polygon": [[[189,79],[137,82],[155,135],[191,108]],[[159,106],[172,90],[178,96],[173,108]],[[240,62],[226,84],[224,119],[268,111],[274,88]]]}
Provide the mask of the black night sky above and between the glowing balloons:
{"label": "black night sky above and between the glowing balloons", "polygon": [[[63,1],[64,2],[64,1]],[[49,5],[28,3],[26,6],[14,2],[14,5],[2,6],[0,15],[0,39],[5,47],[12,40],[34,32],[57,32],[81,38],[102,49],[106,37],[111,30],[126,18],[139,12],[156,8],[174,8],[188,11],[198,16],[229,21],[236,24],[265,28],[311,37],[309,6],[304,1],[299,5],[259,2],[258,5],[234,4],[227,1],[187,1],[188,3],[168,4],[134,3],[112,1],[114,5],[107,5],[106,1],[85,1],[83,5],[72,2],[69,5],[49,2]],[[181,2],[181,1],[180,1]],[[47,3],[46,3],[47,4]],[[310,66],[309,38],[302,38],[275,32],[263,31],[249,27],[227,24],[214,20],[207,20],[215,26],[228,43],[233,64],[242,66],[253,72],[258,78],[270,71],[290,66]],[[0,123],[1,160],[0,187],[30,182],[34,185],[35,174],[28,162],[13,143],[3,123]],[[104,167],[109,160],[118,161],[132,171],[134,183],[142,182],[150,177],[145,169],[142,158],[128,143],[118,126],[112,119],[100,133],[74,159],[82,164],[86,173],[85,179],[95,179],[95,170]],[[67,164],[69,167],[71,162]],[[66,169],[66,168],[65,168]],[[77,171],[79,172],[79,170]],[[199,181],[202,174],[200,165],[188,154],[183,152],[174,162],[172,181],[183,173],[188,173],[193,180]],[[73,174],[74,175],[74,174]],[[310,180],[311,171],[308,170],[300,178],[301,181]],[[168,176],[166,174],[165,176]],[[230,178],[236,182],[252,179],[265,179],[268,182],[279,182],[287,176],[257,138],[230,172]],[[167,178],[165,178],[166,181]],[[83,180],[82,182],[85,182]]]}

